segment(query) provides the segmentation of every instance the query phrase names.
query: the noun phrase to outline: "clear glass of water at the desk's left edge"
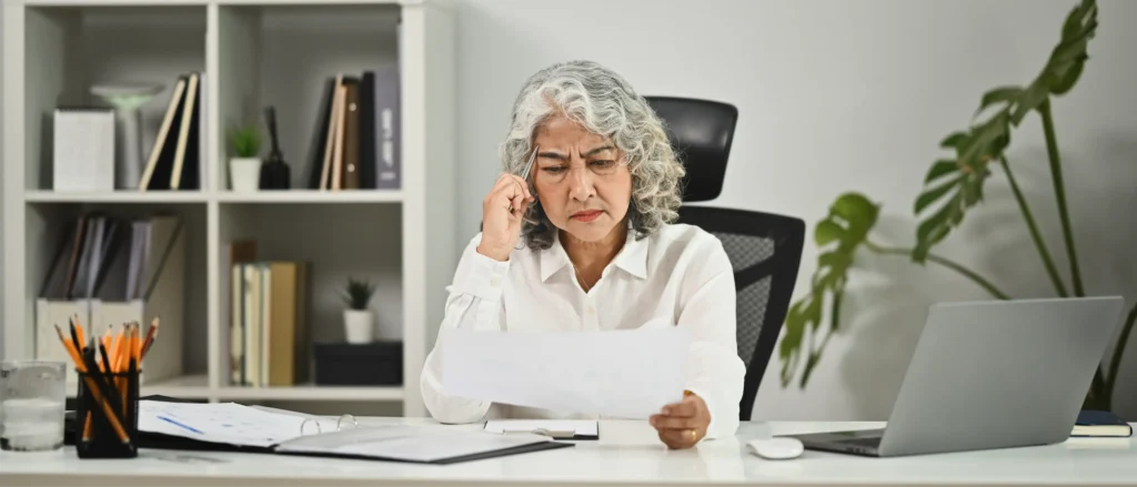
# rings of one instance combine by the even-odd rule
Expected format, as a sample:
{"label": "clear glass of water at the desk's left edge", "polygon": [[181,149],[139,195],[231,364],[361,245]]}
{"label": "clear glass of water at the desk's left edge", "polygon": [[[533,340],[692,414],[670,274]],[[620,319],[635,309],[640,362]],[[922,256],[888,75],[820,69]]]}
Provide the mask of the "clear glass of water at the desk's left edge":
{"label": "clear glass of water at the desk's left edge", "polygon": [[0,448],[42,452],[64,446],[67,364],[0,361]]}

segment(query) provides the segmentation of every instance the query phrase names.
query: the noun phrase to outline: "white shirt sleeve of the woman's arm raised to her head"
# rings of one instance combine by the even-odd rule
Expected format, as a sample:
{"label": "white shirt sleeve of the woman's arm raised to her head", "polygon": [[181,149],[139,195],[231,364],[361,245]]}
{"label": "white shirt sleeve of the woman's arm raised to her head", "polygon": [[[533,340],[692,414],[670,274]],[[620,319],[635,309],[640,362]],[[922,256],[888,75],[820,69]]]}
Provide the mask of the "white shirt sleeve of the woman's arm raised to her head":
{"label": "white shirt sleeve of the woman's arm raised to her head", "polygon": [[499,262],[478,253],[481,235],[463,251],[454,282],[447,286],[446,314],[439,326],[434,349],[426,355],[420,388],[423,403],[439,422],[465,423],[484,418],[490,402],[450,396],[442,391],[442,347],[456,328],[479,331],[501,330],[501,292],[509,262]]}

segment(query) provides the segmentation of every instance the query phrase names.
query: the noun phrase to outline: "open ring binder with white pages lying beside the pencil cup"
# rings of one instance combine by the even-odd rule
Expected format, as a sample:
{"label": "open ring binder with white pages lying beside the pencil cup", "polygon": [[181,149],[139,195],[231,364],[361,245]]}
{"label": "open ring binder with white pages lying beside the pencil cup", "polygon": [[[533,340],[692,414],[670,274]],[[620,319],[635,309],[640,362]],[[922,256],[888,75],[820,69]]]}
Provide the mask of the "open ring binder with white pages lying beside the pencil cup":
{"label": "open ring binder with white pages lying beside the pencil cup", "polygon": [[[139,447],[450,464],[573,446],[542,435],[487,435],[443,425],[359,426],[236,403],[139,402]],[[72,435],[68,435],[72,436]],[[72,438],[68,438],[72,440]]]}

